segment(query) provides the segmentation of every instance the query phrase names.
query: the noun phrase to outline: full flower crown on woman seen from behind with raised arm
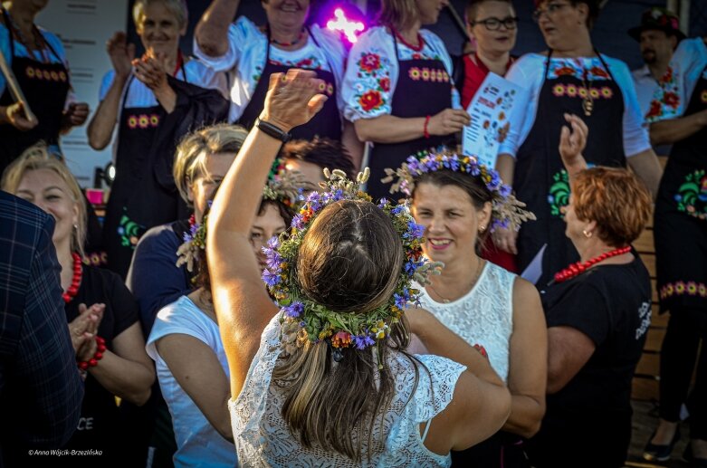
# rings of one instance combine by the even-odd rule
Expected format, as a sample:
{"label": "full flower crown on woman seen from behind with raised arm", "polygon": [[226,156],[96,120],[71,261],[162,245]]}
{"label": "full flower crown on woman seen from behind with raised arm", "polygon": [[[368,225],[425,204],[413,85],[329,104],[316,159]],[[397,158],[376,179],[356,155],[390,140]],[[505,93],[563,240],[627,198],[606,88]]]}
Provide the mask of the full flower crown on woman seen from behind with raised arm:
{"label": "full flower crown on woman seen from behind with raised arm", "polygon": [[282,347],[288,354],[308,341],[326,340],[333,348],[334,360],[339,361],[343,358],[342,349],[378,346],[390,333],[391,325],[400,320],[406,304],[417,301],[419,291],[411,288],[412,282],[425,284],[428,274],[439,272],[441,264],[430,263],[422,255],[424,228],[415,223],[407,205],[391,205],[383,199],[378,207],[393,222],[405,251],[405,263],[398,272],[396,290],[388,301],[366,313],[342,313],[312,301],[302,291],[294,267],[312,221],[324,207],[341,200],[370,202],[371,197],[359,189],[368,180],[368,175],[366,168],[365,172],[358,174],[356,181],[350,181],[339,169],[333,172],[324,169],[327,181],[321,182],[320,186],[326,191],[312,192],[307,196],[300,212],[292,219],[290,233],[282,234],[280,239],[273,237],[263,247],[267,257],[263,281],[281,308]]}

